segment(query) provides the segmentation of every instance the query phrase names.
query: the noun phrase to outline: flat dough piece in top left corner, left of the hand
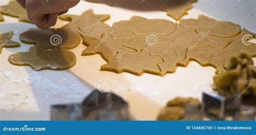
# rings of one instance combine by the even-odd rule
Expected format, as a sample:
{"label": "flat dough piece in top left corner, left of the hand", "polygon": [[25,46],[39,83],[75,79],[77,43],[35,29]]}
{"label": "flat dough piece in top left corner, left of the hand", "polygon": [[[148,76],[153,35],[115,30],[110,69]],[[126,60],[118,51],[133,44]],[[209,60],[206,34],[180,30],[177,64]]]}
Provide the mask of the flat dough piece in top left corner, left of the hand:
{"label": "flat dough piece in top left corner, left of the hand", "polygon": [[0,13],[12,17],[17,17],[19,22],[33,23],[28,18],[26,10],[16,1],[10,1],[8,5],[0,6]]}

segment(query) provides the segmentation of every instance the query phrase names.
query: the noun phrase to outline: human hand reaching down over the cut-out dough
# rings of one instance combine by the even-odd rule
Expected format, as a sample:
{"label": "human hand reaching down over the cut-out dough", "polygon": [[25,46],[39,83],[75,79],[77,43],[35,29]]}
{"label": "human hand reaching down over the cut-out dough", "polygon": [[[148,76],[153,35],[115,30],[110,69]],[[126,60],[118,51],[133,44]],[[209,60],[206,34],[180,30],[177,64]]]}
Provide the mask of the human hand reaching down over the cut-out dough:
{"label": "human hand reaching down over the cut-out dough", "polygon": [[17,0],[26,9],[29,19],[38,28],[48,28],[57,23],[59,15],[63,15],[80,0]]}

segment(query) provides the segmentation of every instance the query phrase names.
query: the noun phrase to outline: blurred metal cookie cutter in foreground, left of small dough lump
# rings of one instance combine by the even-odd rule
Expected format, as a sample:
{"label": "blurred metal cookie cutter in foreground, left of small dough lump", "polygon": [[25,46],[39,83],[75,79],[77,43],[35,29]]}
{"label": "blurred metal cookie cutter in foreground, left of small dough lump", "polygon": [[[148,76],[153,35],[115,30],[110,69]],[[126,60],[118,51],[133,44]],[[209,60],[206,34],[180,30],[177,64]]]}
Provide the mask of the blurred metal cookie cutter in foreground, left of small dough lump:
{"label": "blurred metal cookie cutter in foreground, left of small dough lump", "polygon": [[52,105],[51,120],[129,120],[128,107],[121,97],[95,90],[82,103]]}

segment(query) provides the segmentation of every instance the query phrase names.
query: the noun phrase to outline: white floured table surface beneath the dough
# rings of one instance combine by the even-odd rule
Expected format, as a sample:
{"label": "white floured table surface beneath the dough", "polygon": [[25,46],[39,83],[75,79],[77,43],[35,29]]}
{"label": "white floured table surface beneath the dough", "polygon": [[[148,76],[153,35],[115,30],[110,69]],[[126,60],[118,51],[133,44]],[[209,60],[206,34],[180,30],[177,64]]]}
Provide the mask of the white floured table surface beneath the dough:
{"label": "white floured table surface beneath the dough", "polygon": [[[4,4],[3,1],[0,4]],[[230,21],[256,33],[256,10],[254,0],[199,0],[193,4],[183,18],[197,18],[204,14],[221,21]],[[135,11],[114,8],[105,4],[80,2],[68,14],[82,14],[93,9],[96,14],[110,14],[106,23],[128,20],[131,16],[161,18],[174,21],[162,11]],[[0,32],[17,30],[22,33],[35,28],[28,23],[19,23],[17,18],[4,16],[5,22],[0,23]],[[66,22],[58,21],[56,28]],[[18,34],[13,40],[19,41]],[[93,87],[102,83],[110,86],[111,92],[123,97],[130,105],[130,114],[136,120],[155,120],[161,107],[176,96],[200,98],[197,84],[205,85],[205,91],[211,91],[215,69],[201,67],[190,62],[186,67],[179,67],[175,73],[164,77],[144,73],[134,76],[130,73],[113,73],[100,71],[106,62],[100,55],[80,56],[86,48],[80,44],[72,49],[77,57],[77,64],[65,71],[33,71],[29,66],[14,66],[8,62],[12,53],[28,51],[32,45],[21,43],[21,48],[4,48],[0,55],[0,86],[9,82],[13,86],[10,93],[0,90],[0,118],[2,120],[49,120],[49,106],[57,103],[79,102],[86,97]],[[255,59],[254,59],[255,62]]]}

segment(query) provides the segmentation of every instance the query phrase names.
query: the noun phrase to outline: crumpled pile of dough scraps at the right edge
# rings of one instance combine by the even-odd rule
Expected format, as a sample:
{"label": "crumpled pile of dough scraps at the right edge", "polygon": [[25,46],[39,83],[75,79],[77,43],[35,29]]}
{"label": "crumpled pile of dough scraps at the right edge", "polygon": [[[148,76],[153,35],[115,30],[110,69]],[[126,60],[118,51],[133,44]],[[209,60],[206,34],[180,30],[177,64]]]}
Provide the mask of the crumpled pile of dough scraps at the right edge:
{"label": "crumpled pile of dough scraps at the right edge", "polygon": [[240,93],[243,102],[247,100],[247,103],[255,105],[256,66],[253,65],[251,55],[242,52],[232,56],[226,63],[227,70],[214,76],[213,89],[223,96]]}

